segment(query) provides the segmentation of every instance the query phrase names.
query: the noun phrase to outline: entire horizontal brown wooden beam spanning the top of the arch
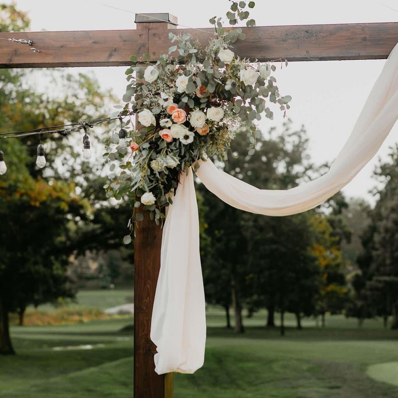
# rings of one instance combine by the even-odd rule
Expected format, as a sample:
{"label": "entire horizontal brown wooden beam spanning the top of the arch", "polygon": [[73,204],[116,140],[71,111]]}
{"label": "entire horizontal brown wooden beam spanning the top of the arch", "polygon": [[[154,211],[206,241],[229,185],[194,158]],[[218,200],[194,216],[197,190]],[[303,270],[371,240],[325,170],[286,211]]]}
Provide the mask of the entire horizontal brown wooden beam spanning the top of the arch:
{"label": "entire horizontal brown wooden beam spanning the top of the arch", "polygon": [[[259,61],[384,59],[398,41],[398,22],[342,25],[258,26],[242,28],[244,41],[234,43],[240,57]],[[170,47],[168,32],[188,32],[205,46],[213,29],[142,29],[0,33],[0,37],[32,40],[28,45],[0,42],[0,68],[55,66],[123,66],[129,56],[150,53],[151,60]],[[206,33],[208,32],[208,33]]]}

